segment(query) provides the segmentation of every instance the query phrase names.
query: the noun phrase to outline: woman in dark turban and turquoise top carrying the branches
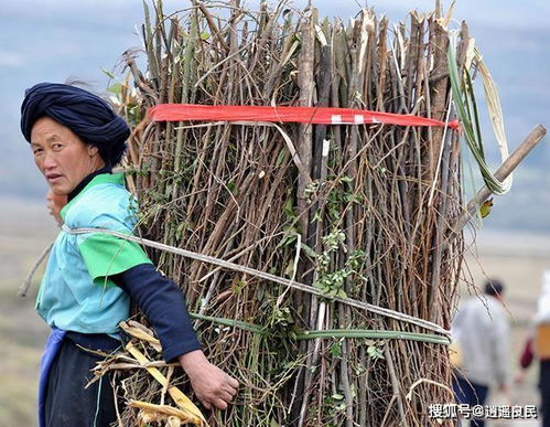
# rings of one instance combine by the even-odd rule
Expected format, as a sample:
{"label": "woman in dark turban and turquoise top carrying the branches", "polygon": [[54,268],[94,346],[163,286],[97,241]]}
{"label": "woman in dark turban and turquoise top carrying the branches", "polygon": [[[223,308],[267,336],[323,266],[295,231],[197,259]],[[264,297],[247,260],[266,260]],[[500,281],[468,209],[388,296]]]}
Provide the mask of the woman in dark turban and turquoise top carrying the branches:
{"label": "woman in dark turban and turquoise top carrying the branches", "polygon": [[[51,191],[66,196],[69,228],[131,233],[132,198],[112,174],[130,135],[101,98],[84,89],[42,83],[28,89],[21,130]],[[166,361],[179,361],[205,407],[224,409],[238,383],[211,364],[192,329],[175,284],[160,275],[137,244],[108,234],[62,231],[36,300],[52,327],[41,366],[42,426],[108,426],[116,420],[109,381],[84,388],[98,357],[120,345],[118,324],[137,301],[155,329]]]}

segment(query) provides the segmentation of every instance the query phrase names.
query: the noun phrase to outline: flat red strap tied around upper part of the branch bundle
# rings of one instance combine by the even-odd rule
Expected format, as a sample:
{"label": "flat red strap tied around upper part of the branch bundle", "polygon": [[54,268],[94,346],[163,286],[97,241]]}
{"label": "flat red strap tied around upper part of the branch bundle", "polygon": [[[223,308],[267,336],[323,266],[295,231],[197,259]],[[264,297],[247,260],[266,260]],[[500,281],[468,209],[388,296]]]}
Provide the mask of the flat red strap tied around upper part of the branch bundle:
{"label": "flat red strap tied around upper part of the branch bundle", "polygon": [[[444,121],[419,116],[332,107],[270,107],[237,105],[160,104],[149,109],[154,121],[273,121],[314,125],[445,126]],[[449,122],[459,129],[459,121]]]}

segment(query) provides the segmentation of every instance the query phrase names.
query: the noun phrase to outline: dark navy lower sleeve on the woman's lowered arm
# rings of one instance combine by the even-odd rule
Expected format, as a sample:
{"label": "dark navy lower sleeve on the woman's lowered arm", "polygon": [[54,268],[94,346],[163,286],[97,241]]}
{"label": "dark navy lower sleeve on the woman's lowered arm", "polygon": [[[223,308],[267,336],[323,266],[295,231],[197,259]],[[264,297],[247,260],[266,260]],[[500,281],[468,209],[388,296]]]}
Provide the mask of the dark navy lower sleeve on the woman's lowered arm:
{"label": "dark navy lower sleeve on the woman's lowered arm", "polygon": [[161,341],[166,362],[201,349],[181,290],[152,264],[140,264],[111,279],[145,313]]}

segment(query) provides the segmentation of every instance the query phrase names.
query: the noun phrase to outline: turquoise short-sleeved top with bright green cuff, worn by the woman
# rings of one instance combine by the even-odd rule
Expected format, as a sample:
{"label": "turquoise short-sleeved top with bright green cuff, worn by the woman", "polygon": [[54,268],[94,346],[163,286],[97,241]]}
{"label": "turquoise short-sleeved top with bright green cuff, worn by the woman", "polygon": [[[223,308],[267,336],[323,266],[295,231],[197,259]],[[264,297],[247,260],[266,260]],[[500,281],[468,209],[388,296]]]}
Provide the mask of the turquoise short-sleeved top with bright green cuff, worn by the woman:
{"label": "turquoise short-sleeved top with bright green cuff, worn by the woman", "polygon": [[[69,228],[132,233],[136,203],[122,174],[98,174],[61,212]],[[82,333],[116,334],[130,313],[130,298],[109,276],[151,263],[136,243],[105,233],[60,232],[36,299],[51,327]]]}

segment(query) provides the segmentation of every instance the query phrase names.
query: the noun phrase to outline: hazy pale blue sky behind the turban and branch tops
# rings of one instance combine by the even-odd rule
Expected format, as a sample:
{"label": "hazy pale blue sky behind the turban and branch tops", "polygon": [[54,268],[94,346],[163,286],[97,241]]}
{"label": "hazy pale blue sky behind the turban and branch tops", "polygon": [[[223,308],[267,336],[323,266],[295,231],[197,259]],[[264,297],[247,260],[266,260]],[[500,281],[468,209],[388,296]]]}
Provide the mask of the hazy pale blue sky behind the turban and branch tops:
{"label": "hazy pale blue sky behind the turban and branch tops", "polygon": [[[296,7],[306,1],[295,1]],[[190,6],[185,0],[164,1],[164,10]],[[258,0],[247,0],[254,7]],[[447,7],[450,2],[443,1]],[[359,4],[374,7],[390,20],[402,20],[412,9],[427,11],[425,0],[314,0],[322,15],[347,19]],[[64,82],[76,77],[104,90],[101,70],[114,70],[129,47],[140,47],[136,29],[142,22],[139,0],[20,0],[0,7],[0,139],[7,156],[2,162],[29,159],[19,132],[19,108],[24,89],[37,82]],[[500,90],[510,145],[536,122],[550,116],[550,1],[459,0],[456,25],[471,28]],[[6,166],[6,167],[4,167]],[[13,169],[13,166],[11,166]],[[36,182],[41,178],[35,177]],[[34,179],[34,178],[33,178]],[[6,180],[0,180],[0,184]],[[0,193],[3,189],[0,188]]]}

